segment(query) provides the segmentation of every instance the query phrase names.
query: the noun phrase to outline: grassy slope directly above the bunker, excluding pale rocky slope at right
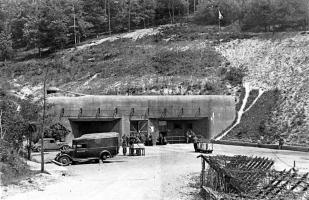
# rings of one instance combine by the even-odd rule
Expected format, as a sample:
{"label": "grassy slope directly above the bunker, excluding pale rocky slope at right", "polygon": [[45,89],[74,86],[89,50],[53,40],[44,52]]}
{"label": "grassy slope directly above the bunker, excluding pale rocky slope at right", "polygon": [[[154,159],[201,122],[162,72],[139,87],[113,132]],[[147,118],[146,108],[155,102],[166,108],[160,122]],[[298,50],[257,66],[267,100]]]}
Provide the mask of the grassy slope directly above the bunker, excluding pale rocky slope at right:
{"label": "grassy slope directly above the bunker, excluding pale rocky slope at right", "polygon": [[49,86],[85,94],[231,94],[228,82],[237,80],[226,80],[228,72],[219,67],[225,59],[214,48],[213,29],[178,24],[138,30],[6,63],[1,71],[20,95],[40,95],[42,66],[49,68]]}

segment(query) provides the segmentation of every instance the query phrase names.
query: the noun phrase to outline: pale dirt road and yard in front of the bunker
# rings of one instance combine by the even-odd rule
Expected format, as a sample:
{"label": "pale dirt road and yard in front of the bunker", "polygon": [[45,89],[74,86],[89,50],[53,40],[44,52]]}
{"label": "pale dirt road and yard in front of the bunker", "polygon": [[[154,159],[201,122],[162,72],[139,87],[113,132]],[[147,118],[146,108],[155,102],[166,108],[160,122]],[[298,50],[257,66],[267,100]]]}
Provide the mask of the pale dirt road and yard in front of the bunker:
{"label": "pale dirt road and yard in front of the bunker", "polygon": [[[275,168],[293,166],[309,171],[307,153],[253,147],[215,145],[214,154],[265,156]],[[66,176],[38,190],[12,194],[5,199],[200,199],[198,154],[192,144],[148,147],[145,157],[116,156],[102,164],[68,166]]]}

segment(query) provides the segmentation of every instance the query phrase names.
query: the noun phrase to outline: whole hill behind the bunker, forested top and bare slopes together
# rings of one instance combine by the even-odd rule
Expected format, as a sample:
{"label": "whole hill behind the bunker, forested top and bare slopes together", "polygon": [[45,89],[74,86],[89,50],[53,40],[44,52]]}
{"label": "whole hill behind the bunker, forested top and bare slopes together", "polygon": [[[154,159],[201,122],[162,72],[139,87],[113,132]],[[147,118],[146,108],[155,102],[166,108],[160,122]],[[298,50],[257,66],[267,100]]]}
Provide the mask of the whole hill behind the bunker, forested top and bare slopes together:
{"label": "whole hill behind the bunker, forested top and bare slopes together", "polygon": [[[149,24],[144,23],[148,22],[145,16],[139,21],[140,23],[133,23],[133,16],[137,16],[132,14],[135,7],[133,9],[132,6],[130,10],[132,16],[129,18],[128,8],[125,7],[128,4],[122,1],[74,2],[76,3],[73,12],[76,12],[76,26],[80,26],[79,34],[84,35],[85,40],[77,44],[76,48],[73,47],[74,42],[72,43],[74,39],[72,29],[63,29],[64,32],[61,32],[62,29],[54,29],[58,27],[54,25],[66,19],[68,19],[67,24],[64,23],[60,27],[67,28],[74,23],[72,4],[68,4],[68,1],[1,1],[1,17],[4,20],[1,21],[0,27],[2,34],[10,37],[9,40],[2,40],[0,45],[2,59],[6,59],[5,62],[0,63],[0,82],[9,83],[15,87],[13,91],[16,95],[41,96],[46,69],[49,69],[48,86],[85,94],[224,94],[235,95],[241,99],[241,88],[244,83],[248,83],[251,85],[251,90],[255,90],[250,92],[252,96],[248,100],[249,103],[257,97],[256,91],[262,90],[262,96],[253,106],[246,105],[250,110],[242,118],[245,123],[241,123],[227,137],[256,142],[263,135],[265,142],[274,143],[276,138],[282,135],[288,143],[307,145],[308,35],[307,32],[278,32],[282,29],[307,27],[308,15],[304,9],[307,8],[306,1],[219,0],[214,2],[205,0],[189,1],[187,4],[189,7],[184,6],[184,1],[150,1],[154,3],[151,4],[154,7],[151,12],[152,17],[148,17]],[[95,4],[96,2],[101,4]],[[140,4],[146,1],[134,0],[130,1],[130,5],[135,5],[134,2],[139,5],[150,5]],[[178,6],[176,2],[179,3]],[[109,20],[106,20],[109,19],[108,9],[107,15],[102,15],[107,16],[104,18],[105,21],[95,26],[95,20],[101,16],[98,10],[105,14],[108,7],[104,6],[108,4],[111,10],[113,6],[123,6],[122,14],[127,13],[120,15],[121,9],[114,7],[114,14],[126,16],[119,18],[121,20],[116,22],[113,20],[118,20],[118,17],[110,12],[111,19],[113,18],[111,20],[113,32],[123,33],[86,40],[92,33],[99,35],[102,32],[108,32]],[[3,9],[3,5],[11,7]],[[228,9],[231,5],[238,9]],[[56,12],[56,8],[61,12]],[[79,15],[78,8],[81,9]],[[224,17],[221,20],[224,26],[220,33],[216,24],[218,9]],[[186,12],[188,10],[189,12]],[[267,10],[268,13],[266,13]],[[280,14],[286,10],[289,11],[286,15]],[[130,27],[134,29],[144,25],[155,26],[177,20],[186,21],[187,13],[193,13],[193,11],[195,14],[190,16],[189,21],[193,20],[194,23],[175,23],[131,32],[124,29],[128,27],[129,19],[130,23],[132,22]],[[30,32],[40,37],[32,35],[27,38],[25,34],[27,24],[35,22],[30,17],[36,16],[37,12],[41,13],[37,18],[38,24]],[[60,15],[61,13],[64,15]],[[94,15],[95,13],[97,15]],[[89,17],[92,15],[93,17]],[[203,18],[205,16],[206,18]],[[264,16],[263,20],[256,20],[261,16]],[[15,26],[14,23],[20,19],[26,21]],[[209,21],[203,21],[203,19]],[[238,23],[235,23],[235,20]],[[195,24],[201,21],[216,25]],[[82,28],[83,24],[92,24],[92,26]],[[122,28],[117,29],[117,27]],[[77,27],[75,28],[76,31]],[[244,32],[241,29],[266,30],[271,33]],[[66,38],[63,41],[68,42],[65,42],[62,47],[52,46],[59,44],[56,39],[61,38],[57,36],[60,33]],[[42,38],[45,39],[41,40]],[[34,43],[31,43],[31,40]],[[71,48],[57,50],[66,46]],[[40,57],[37,54],[37,47],[47,53]],[[13,53],[12,55],[15,52],[11,59],[8,56],[11,55],[10,52]],[[256,112],[253,112],[254,110]]]}

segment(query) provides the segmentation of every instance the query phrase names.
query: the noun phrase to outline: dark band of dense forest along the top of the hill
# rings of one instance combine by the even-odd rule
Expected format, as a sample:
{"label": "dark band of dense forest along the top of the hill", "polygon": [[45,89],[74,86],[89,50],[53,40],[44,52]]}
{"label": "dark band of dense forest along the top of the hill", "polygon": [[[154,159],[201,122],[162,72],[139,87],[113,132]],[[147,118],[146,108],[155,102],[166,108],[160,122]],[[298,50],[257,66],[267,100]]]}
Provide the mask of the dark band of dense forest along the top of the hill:
{"label": "dark band of dense forest along the top of the hill", "polygon": [[[239,22],[242,30],[305,29],[307,0],[1,0],[0,60],[17,50],[50,53],[104,34],[166,23]],[[193,19],[192,19],[193,17]]]}

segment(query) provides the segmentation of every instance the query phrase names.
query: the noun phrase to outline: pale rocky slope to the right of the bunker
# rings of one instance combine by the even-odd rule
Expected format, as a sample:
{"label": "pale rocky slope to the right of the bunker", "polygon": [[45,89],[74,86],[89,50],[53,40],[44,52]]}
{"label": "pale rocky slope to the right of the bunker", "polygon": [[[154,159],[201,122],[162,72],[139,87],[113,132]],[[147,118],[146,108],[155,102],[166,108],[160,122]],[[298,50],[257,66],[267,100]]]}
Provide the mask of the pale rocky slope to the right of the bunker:
{"label": "pale rocky slope to the right of the bunker", "polygon": [[309,35],[303,32],[261,35],[217,47],[230,65],[247,69],[243,82],[250,90],[263,92],[226,138],[256,141],[263,135],[273,143],[281,136],[287,143],[309,143],[308,44]]}

